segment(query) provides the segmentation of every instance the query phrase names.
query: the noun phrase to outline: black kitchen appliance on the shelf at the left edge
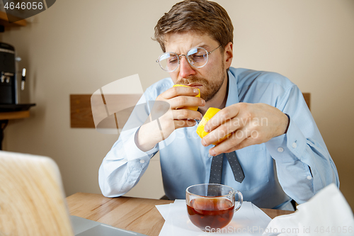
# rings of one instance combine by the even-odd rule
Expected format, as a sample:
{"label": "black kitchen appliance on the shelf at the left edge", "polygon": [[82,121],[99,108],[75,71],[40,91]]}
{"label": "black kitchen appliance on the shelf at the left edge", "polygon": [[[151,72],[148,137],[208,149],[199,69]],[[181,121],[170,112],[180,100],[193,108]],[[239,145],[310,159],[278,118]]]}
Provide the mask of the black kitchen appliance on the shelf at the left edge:
{"label": "black kitchen appliance on the shelf at the left edge", "polygon": [[25,69],[17,70],[15,47],[0,43],[0,112],[28,110],[34,103],[23,103],[25,94]]}

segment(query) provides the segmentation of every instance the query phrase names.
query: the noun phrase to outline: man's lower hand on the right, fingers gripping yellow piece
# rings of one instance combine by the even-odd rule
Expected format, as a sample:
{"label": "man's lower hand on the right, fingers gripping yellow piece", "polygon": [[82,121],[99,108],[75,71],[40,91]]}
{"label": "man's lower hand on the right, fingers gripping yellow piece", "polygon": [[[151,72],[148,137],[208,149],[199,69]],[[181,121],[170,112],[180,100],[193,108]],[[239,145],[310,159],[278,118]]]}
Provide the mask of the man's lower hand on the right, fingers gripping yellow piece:
{"label": "man's lower hand on the right, fingers gripping yellow piece", "polygon": [[202,145],[211,145],[232,133],[209,152],[212,155],[233,152],[284,134],[287,123],[285,113],[268,104],[236,103],[222,109],[207,122],[205,131],[210,133],[202,138]]}

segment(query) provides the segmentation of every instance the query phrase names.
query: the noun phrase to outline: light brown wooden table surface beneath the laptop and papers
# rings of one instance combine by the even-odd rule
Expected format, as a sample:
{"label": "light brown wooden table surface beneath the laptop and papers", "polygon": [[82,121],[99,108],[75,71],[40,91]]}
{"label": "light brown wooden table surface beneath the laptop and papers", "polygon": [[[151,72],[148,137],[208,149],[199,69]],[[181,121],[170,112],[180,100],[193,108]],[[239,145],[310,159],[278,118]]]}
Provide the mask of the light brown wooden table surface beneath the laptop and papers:
{"label": "light brown wooden table surface beneath the laptop and papers", "polygon": [[[164,218],[155,205],[173,201],[147,198],[105,198],[101,194],[75,193],[67,197],[70,215],[95,220],[124,230],[132,230],[145,235],[159,235]],[[289,210],[262,210],[275,218],[277,215],[293,213]]]}

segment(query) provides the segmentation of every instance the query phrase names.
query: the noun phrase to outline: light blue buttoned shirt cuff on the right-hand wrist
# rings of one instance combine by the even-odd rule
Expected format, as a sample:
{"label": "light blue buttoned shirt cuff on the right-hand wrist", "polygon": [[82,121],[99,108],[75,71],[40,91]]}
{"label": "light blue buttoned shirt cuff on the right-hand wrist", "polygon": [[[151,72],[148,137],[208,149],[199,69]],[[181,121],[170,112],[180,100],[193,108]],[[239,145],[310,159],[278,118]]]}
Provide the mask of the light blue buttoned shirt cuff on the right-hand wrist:
{"label": "light blue buttoned shirt cuff on the right-hand wrist", "polygon": [[268,142],[265,142],[265,146],[277,162],[301,161],[302,154],[306,150],[306,137],[304,137],[296,123],[290,119],[287,133],[273,137]]}

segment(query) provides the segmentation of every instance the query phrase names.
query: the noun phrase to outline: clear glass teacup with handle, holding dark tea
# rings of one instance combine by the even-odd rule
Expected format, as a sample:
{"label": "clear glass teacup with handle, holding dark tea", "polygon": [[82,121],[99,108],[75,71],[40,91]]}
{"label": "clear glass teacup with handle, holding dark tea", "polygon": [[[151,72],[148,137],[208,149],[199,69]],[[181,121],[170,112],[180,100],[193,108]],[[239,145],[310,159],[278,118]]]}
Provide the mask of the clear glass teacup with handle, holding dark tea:
{"label": "clear glass teacup with handle, holding dark tea", "polygon": [[[236,194],[239,198],[237,206]],[[227,226],[243,200],[240,191],[222,184],[196,184],[185,190],[190,221],[204,231]]]}

